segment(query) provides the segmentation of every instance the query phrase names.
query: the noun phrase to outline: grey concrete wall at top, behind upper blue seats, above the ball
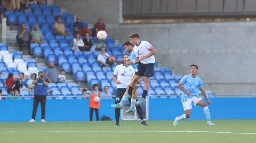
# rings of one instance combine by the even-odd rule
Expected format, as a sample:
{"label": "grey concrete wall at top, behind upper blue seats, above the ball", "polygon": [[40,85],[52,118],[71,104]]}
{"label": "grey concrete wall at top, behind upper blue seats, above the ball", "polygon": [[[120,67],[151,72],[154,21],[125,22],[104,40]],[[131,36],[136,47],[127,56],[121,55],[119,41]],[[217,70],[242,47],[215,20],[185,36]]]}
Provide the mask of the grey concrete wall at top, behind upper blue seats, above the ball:
{"label": "grey concrete wall at top, behind upper blue seats, above the ball", "polygon": [[57,6],[66,7],[67,12],[80,15],[87,23],[95,24],[100,17],[103,17],[106,32],[113,38],[119,37],[119,2],[119,0],[55,0]]}

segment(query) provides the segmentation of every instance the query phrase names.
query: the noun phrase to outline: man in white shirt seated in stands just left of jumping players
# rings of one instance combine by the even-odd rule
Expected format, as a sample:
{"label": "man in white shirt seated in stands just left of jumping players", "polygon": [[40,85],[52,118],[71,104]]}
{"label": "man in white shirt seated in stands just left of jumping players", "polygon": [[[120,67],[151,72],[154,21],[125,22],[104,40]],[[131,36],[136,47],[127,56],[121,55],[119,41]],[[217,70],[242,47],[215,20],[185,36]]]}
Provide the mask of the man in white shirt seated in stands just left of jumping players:
{"label": "man in white shirt seated in stands just left of jumping players", "polygon": [[109,58],[116,59],[115,56],[110,57],[108,53],[105,53],[105,47],[100,49],[100,54],[98,55],[97,62],[100,63],[100,67],[111,67],[112,64],[116,66],[116,62],[110,62]]}

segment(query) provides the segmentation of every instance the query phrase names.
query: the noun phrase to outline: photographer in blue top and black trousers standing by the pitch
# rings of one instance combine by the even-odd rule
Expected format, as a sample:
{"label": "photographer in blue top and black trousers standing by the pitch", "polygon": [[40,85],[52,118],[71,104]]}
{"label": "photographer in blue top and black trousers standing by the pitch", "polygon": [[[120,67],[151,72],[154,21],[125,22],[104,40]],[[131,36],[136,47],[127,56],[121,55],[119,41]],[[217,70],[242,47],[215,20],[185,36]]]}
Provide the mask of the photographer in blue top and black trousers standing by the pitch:
{"label": "photographer in blue top and black trousers standing by the pitch", "polygon": [[49,81],[47,78],[44,78],[43,72],[38,72],[38,78],[35,79],[32,84],[35,85],[34,88],[34,102],[33,102],[33,112],[32,119],[29,122],[35,122],[35,115],[37,114],[37,107],[39,102],[41,102],[42,109],[42,117],[41,122],[45,122],[45,103],[46,103],[46,95],[47,95],[47,86]]}

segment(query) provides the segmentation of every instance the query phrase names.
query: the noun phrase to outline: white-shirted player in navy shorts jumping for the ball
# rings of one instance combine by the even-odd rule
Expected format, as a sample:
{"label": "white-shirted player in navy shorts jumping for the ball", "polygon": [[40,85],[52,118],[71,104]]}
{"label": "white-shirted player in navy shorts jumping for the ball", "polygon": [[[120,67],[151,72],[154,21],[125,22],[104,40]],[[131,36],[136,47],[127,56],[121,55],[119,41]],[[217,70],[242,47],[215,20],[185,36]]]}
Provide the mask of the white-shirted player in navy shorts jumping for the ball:
{"label": "white-shirted player in navy shorts jumping for the ball", "polygon": [[[142,104],[146,102],[147,92],[150,88],[150,78],[154,75],[155,70],[155,57],[156,50],[154,47],[146,41],[140,41],[139,34],[133,33],[129,36],[130,43],[135,45],[133,50],[137,57],[135,61],[129,61],[129,64],[139,63],[138,68],[136,69],[135,76],[130,83],[130,87],[128,90],[128,95],[132,94],[132,90],[135,88],[136,83],[140,79],[141,76],[144,76],[144,90],[142,93],[142,98],[136,102],[136,104]],[[132,112],[134,108],[130,108],[128,111]]]}

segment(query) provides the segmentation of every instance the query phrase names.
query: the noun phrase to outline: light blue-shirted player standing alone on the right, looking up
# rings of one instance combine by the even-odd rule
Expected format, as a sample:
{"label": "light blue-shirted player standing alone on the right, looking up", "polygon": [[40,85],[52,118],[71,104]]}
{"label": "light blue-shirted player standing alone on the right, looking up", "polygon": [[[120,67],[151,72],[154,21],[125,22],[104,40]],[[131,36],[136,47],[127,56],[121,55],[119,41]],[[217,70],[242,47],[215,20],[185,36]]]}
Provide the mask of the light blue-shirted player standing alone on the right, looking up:
{"label": "light blue-shirted player standing alone on the right, looking up", "polygon": [[207,107],[207,104],[203,101],[201,97],[197,95],[197,87],[199,87],[201,93],[207,100],[208,105],[211,105],[211,102],[203,89],[203,82],[197,76],[198,66],[191,65],[190,68],[191,74],[184,76],[178,84],[178,87],[183,91],[181,101],[183,104],[185,114],[181,115],[180,117],[176,117],[175,121],[173,122],[173,125],[177,126],[179,121],[190,117],[190,110],[192,109],[192,104],[194,104],[195,106],[202,106],[204,114],[207,119],[207,125],[214,125],[211,122],[210,111]]}

